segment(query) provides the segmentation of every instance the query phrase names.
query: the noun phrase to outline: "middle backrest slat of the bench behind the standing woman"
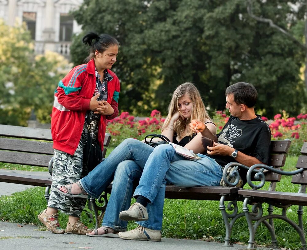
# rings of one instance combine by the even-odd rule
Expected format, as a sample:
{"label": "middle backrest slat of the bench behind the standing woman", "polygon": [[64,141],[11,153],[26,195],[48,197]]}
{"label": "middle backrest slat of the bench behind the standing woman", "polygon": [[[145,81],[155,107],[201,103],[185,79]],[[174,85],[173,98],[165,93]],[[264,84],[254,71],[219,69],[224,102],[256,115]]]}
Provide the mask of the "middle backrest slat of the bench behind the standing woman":
{"label": "middle backrest slat of the bench behind the standing woman", "polygon": [[52,145],[51,142],[0,138],[0,149],[4,150],[53,155]]}

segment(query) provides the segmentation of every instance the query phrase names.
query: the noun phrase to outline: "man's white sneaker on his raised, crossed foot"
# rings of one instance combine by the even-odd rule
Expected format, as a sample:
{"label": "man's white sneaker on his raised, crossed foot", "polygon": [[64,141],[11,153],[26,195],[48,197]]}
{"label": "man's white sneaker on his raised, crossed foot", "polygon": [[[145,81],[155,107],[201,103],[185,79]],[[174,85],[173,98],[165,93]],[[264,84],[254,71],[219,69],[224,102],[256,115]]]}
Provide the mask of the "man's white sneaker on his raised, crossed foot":
{"label": "man's white sneaker on his raised, crossed foot", "polygon": [[132,204],[128,210],[120,212],[119,219],[125,220],[125,221],[148,220],[147,209],[141,203],[136,202]]}

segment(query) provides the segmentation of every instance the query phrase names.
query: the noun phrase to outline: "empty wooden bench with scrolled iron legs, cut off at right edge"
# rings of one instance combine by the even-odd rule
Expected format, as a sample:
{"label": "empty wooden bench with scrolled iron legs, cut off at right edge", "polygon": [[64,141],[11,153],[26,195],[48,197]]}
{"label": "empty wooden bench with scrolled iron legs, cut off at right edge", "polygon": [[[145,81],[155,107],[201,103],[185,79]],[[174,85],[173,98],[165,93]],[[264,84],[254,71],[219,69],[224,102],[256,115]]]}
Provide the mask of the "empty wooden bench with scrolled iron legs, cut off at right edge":
{"label": "empty wooden bench with scrolled iron legs, cut off at right edge", "polygon": [[[251,180],[254,175],[252,171],[256,168],[260,168],[257,173],[257,180],[261,181],[261,183],[258,185],[253,184]],[[304,143],[301,149],[301,155],[298,157],[296,168],[297,170],[295,171],[285,172],[281,171],[280,169],[272,169],[266,165],[256,164],[248,170],[247,182],[252,189],[239,190],[239,195],[244,197],[243,211],[249,227],[250,237],[248,241],[248,248],[253,248],[255,234],[261,223],[264,223],[269,229],[272,244],[277,246],[273,219],[281,219],[286,221],[297,231],[301,240],[302,247],[300,249],[306,250],[303,206],[307,206],[307,194],[305,193],[307,185],[307,142]],[[277,192],[275,191],[276,182],[271,182],[268,190],[259,190],[264,186],[266,181],[269,181],[263,174],[265,169],[269,170],[271,173],[274,173],[278,180],[280,180],[282,175],[293,176],[291,181],[293,185],[291,185],[291,189],[295,190],[298,188],[298,192]],[[268,215],[263,215],[262,204],[264,203],[268,204]],[[247,206],[248,204],[252,204],[251,212]],[[298,205],[298,224],[287,216],[288,208],[290,208],[292,205]],[[278,214],[278,212],[275,211],[274,213],[274,207],[282,208],[282,212]],[[253,221],[255,221],[254,224]]]}

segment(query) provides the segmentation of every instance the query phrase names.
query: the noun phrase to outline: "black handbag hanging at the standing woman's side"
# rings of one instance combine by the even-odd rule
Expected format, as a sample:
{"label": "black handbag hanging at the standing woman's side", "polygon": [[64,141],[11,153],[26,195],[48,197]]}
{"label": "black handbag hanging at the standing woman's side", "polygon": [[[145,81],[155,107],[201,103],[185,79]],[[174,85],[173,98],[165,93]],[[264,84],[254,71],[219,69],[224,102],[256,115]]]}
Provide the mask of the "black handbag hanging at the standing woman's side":
{"label": "black handbag hanging at the standing woman's side", "polygon": [[90,111],[87,112],[87,142],[83,149],[83,171],[82,175],[90,173],[103,159],[103,152],[98,141],[94,141],[90,135]]}

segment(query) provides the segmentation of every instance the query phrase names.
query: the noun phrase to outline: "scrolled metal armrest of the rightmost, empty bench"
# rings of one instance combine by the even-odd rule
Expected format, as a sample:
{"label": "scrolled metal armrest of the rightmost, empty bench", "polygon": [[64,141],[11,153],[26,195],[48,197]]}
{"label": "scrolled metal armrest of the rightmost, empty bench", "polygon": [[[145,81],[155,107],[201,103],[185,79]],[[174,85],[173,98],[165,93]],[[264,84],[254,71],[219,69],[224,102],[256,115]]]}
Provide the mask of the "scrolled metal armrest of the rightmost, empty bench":
{"label": "scrolled metal armrest of the rightmost, empty bench", "polygon": [[[257,169],[257,168],[260,168],[260,169]],[[268,165],[265,165],[265,164],[255,164],[255,165],[252,165],[248,169],[247,176],[246,176],[247,183],[248,183],[248,185],[251,186],[251,188],[259,189],[259,188],[262,188],[264,186],[264,184],[266,182],[266,177],[265,177],[263,171],[265,169],[269,170],[270,172],[277,173],[277,174],[282,174],[282,175],[286,175],[286,176],[295,175],[295,174],[303,172],[303,170],[304,170],[304,169],[297,169],[295,171],[285,172],[285,171],[281,171],[279,169],[275,169],[273,166],[268,166]],[[255,172],[256,172],[255,180],[256,181],[261,181],[260,184],[258,184],[258,185],[253,184],[252,181],[251,181],[251,175],[253,173],[255,173]]]}

